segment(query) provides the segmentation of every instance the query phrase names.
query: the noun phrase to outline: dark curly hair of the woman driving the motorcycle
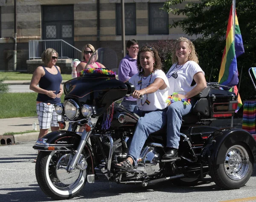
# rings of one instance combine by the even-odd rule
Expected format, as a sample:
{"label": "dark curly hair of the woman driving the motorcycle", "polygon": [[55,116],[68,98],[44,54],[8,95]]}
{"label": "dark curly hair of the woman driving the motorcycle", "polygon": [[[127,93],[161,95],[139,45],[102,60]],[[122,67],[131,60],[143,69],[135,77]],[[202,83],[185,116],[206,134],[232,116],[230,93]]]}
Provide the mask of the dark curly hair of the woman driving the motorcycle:
{"label": "dark curly hair of the woman driving the motorcycle", "polygon": [[139,75],[144,74],[144,70],[143,70],[143,68],[140,65],[140,53],[141,52],[147,52],[147,51],[152,53],[152,56],[153,56],[153,58],[155,60],[153,71],[155,71],[156,69],[162,69],[161,59],[160,59],[160,57],[158,55],[157,50],[154,49],[154,47],[151,47],[151,46],[142,46],[139,49],[138,57],[137,57],[137,68],[138,68]]}

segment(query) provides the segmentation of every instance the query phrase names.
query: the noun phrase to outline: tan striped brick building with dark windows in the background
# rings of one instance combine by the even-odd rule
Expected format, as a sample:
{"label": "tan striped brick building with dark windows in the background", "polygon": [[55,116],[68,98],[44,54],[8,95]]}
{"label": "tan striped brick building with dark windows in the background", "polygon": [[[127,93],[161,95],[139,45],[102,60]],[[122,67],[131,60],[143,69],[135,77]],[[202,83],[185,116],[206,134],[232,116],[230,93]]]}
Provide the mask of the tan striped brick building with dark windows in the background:
{"label": "tan striped brick building with dark windows in the background", "polygon": [[[182,16],[160,10],[164,2],[125,0],[125,40],[136,39],[141,46],[184,36],[181,29],[169,29],[169,23]],[[177,7],[180,6],[183,5]],[[14,0],[0,0],[0,13],[3,52],[0,71],[12,71]],[[28,69],[29,40],[49,39],[62,39],[79,50],[87,43],[96,49],[108,47],[116,51],[119,62],[122,59],[120,0],[17,0],[17,71]]]}

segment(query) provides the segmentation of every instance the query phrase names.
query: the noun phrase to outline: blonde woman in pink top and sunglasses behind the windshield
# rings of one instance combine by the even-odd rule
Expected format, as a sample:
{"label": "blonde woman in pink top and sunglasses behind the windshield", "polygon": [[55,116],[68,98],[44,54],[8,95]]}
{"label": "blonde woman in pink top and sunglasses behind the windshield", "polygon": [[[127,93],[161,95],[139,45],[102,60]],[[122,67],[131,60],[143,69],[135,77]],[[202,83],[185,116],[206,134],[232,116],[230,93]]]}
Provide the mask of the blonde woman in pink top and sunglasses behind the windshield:
{"label": "blonde woman in pink top and sunglasses behind the windshield", "polygon": [[[77,77],[80,76],[80,72],[85,68],[87,62],[89,61],[91,55],[95,52],[95,48],[90,43],[86,44],[81,52],[81,62],[76,66]],[[97,60],[98,58],[96,58]],[[102,63],[90,61],[88,68],[106,68]]]}

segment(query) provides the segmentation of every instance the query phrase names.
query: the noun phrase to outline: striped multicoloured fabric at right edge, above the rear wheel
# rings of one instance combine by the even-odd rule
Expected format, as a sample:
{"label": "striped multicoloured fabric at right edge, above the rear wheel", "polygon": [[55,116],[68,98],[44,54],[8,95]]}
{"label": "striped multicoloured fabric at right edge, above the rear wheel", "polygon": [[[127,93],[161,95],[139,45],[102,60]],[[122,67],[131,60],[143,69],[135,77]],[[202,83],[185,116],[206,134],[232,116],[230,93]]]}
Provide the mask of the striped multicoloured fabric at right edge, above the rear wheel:
{"label": "striped multicoloured fabric at right edge, above the rear wheel", "polygon": [[244,101],[242,129],[256,134],[256,100]]}

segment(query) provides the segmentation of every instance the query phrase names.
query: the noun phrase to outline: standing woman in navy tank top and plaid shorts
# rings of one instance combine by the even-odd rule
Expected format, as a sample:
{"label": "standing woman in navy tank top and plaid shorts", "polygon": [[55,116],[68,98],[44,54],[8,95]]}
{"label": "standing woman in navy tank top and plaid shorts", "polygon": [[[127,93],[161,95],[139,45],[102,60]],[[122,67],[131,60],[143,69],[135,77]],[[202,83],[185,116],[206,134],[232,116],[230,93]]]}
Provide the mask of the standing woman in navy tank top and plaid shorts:
{"label": "standing woman in navy tank top and plaid shorts", "polygon": [[63,92],[61,69],[56,66],[58,53],[55,49],[49,48],[43,52],[41,58],[44,66],[35,69],[29,86],[29,89],[38,92],[36,99],[40,127],[38,139],[48,133],[49,127],[52,131],[59,130],[58,121],[61,121],[61,115],[57,115],[53,104],[61,102]]}

